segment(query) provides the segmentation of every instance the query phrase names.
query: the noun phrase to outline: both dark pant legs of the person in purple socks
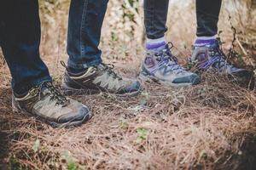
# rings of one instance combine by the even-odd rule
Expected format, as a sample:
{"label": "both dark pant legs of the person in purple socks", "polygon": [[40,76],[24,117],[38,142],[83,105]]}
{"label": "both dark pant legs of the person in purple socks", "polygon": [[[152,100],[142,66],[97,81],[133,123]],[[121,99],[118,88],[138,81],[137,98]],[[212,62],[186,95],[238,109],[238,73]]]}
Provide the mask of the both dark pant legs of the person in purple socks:
{"label": "both dark pant legs of the person in purple socks", "polygon": [[[221,3],[222,0],[196,0],[198,37],[212,37],[218,33]],[[148,38],[158,39],[165,36],[168,4],[169,0],[144,0],[144,24]]]}

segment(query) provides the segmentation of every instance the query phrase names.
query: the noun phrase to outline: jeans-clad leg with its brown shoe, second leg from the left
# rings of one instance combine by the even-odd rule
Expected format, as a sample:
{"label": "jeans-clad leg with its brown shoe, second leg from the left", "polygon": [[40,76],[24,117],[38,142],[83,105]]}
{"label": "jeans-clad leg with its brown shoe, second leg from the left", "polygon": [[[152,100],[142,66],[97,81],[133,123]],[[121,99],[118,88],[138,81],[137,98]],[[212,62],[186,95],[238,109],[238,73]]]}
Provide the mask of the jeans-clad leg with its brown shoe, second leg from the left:
{"label": "jeans-clad leg with its brown shoe, second leg from the left", "polygon": [[98,48],[108,0],[72,0],[67,33],[67,70],[62,88],[66,94],[138,94],[141,84],[116,74],[102,64]]}

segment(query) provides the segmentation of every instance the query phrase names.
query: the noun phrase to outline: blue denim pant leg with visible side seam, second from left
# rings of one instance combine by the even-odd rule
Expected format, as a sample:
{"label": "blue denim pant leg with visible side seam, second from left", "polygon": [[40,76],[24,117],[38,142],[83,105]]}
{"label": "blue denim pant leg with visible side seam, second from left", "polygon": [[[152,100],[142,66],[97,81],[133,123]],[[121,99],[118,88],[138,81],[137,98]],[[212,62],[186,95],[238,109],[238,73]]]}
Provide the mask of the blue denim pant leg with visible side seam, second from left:
{"label": "blue denim pant leg with visible side seam, second from left", "polygon": [[67,33],[69,67],[83,69],[102,63],[98,45],[107,5],[108,0],[71,1]]}

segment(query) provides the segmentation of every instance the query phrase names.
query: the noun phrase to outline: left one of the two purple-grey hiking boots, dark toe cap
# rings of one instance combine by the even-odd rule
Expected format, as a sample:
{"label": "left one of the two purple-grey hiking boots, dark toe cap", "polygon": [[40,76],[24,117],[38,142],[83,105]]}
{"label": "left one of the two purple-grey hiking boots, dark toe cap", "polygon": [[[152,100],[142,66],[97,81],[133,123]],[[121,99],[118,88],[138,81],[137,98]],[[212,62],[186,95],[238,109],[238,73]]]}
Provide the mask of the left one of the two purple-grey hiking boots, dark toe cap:
{"label": "left one of the two purple-grey hiking boots, dark toe cap", "polygon": [[140,78],[143,81],[153,80],[172,87],[198,84],[200,77],[178,65],[177,58],[171,53],[172,47],[172,42],[169,42],[163,47],[147,50]]}

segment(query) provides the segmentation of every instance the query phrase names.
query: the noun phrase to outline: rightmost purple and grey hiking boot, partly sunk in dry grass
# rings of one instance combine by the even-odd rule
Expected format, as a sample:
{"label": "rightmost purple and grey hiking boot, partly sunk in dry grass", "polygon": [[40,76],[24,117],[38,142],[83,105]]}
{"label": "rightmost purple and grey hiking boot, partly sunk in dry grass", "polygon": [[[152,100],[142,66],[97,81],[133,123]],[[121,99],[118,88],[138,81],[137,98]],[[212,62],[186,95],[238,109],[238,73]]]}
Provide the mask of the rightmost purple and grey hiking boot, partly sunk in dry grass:
{"label": "rightmost purple and grey hiking boot, partly sunk in dry grass", "polygon": [[214,71],[221,75],[250,79],[252,73],[230,65],[226,56],[219,48],[218,40],[202,46],[194,46],[190,61],[201,71]]}

